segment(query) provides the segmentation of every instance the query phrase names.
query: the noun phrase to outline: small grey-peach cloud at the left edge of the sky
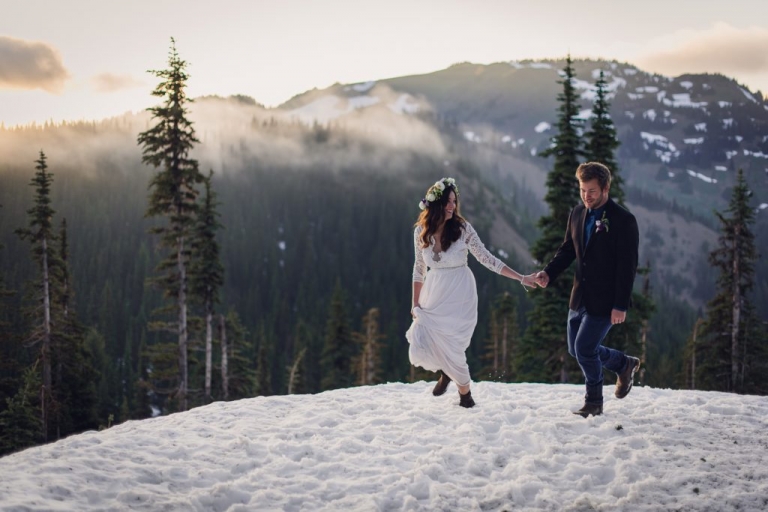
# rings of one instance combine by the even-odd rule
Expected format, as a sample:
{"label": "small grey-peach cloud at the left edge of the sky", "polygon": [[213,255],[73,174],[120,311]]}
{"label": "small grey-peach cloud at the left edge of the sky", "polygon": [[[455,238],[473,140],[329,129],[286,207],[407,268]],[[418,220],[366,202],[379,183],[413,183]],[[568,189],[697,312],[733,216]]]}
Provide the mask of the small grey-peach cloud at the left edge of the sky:
{"label": "small grey-peach cloud at the left edge of the sky", "polygon": [[60,92],[69,78],[59,52],[38,41],[0,36],[0,89]]}

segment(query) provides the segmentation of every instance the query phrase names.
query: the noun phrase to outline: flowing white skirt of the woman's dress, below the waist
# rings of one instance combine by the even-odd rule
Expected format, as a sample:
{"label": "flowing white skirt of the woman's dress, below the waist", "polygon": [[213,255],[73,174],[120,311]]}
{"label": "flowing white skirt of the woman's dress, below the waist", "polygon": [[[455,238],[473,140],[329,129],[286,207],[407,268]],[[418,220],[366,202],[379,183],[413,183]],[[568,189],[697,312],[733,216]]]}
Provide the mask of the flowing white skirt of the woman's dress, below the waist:
{"label": "flowing white skirt of the woman's dress, below the waist", "polygon": [[466,265],[430,269],[419,304],[405,333],[411,364],[442,370],[457,385],[469,385],[465,352],[477,325],[477,284],[472,271]]}

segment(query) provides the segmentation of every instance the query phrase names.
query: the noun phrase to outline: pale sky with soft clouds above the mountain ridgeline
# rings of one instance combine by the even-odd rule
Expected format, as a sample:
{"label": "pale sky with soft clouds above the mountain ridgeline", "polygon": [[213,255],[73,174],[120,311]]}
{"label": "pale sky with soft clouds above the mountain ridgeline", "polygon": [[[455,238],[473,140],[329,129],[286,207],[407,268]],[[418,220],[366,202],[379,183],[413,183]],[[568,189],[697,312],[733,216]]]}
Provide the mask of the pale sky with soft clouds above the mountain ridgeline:
{"label": "pale sky with soft clouds above the mountain ridgeline", "polygon": [[189,94],[276,106],[313,87],[457,62],[607,58],[768,94],[765,0],[0,0],[0,123],[157,103],[170,37]]}

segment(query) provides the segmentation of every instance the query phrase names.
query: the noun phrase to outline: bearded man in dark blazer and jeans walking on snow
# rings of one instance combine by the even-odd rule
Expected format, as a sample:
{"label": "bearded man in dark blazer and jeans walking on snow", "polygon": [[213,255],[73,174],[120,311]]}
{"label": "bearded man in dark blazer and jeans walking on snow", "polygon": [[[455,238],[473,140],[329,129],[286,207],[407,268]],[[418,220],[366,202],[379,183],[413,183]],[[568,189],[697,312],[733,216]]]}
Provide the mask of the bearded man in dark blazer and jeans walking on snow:
{"label": "bearded man in dark blazer and jeans walking on snow", "polygon": [[565,241],[552,261],[536,274],[546,287],[576,260],[568,311],[568,353],[584,373],[584,407],[574,414],[603,413],[603,367],[617,374],[616,398],[632,389],[640,360],[602,346],[611,326],[623,323],[637,270],[638,229],[634,215],[608,197],[611,172],[597,162],[576,170],[583,205],[571,210]]}

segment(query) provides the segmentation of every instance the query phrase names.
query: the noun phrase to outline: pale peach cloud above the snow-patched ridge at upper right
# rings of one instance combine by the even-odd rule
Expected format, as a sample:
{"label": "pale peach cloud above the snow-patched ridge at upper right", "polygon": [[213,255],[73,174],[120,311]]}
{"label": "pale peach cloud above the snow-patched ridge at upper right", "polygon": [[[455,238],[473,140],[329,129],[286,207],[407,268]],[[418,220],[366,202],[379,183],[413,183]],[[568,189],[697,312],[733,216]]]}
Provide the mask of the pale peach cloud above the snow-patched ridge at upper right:
{"label": "pale peach cloud above the snow-patched ridge at upper right", "polygon": [[759,74],[768,72],[768,29],[738,29],[717,23],[702,31],[680,31],[654,41],[653,49],[638,64],[666,75],[719,72]]}

